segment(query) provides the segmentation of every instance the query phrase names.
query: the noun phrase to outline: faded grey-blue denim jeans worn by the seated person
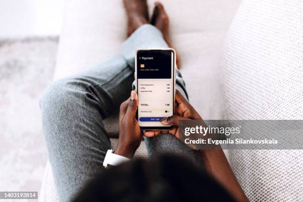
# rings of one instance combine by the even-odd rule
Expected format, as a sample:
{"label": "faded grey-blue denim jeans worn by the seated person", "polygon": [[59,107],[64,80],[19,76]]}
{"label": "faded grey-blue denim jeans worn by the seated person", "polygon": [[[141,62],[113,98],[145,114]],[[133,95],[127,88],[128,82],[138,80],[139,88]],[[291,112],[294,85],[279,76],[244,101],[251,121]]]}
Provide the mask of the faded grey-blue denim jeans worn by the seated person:
{"label": "faded grey-blue denim jeans worn by the seated person", "polygon": [[[69,201],[98,169],[110,149],[102,119],[130,96],[134,80],[135,51],[166,48],[161,32],[152,25],[137,29],[123,44],[122,55],[97,68],[54,81],[40,101],[43,130],[56,190],[61,202]],[[177,72],[177,89],[187,97]],[[174,152],[202,164],[198,152],[188,150],[169,134],[145,138],[150,155]]]}

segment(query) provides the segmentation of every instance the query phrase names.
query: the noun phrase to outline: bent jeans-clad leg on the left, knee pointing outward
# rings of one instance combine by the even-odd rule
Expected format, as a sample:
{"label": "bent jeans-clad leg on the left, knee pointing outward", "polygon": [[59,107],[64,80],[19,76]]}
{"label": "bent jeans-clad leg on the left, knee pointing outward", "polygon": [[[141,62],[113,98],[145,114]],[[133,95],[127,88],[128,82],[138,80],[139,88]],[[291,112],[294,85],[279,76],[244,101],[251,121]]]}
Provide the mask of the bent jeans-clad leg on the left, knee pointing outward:
{"label": "bent jeans-clad leg on the left, knee pointing outward", "polygon": [[69,201],[102,167],[110,149],[102,118],[129,97],[133,70],[122,56],[52,83],[41,98],[44,135],[60,201]]}

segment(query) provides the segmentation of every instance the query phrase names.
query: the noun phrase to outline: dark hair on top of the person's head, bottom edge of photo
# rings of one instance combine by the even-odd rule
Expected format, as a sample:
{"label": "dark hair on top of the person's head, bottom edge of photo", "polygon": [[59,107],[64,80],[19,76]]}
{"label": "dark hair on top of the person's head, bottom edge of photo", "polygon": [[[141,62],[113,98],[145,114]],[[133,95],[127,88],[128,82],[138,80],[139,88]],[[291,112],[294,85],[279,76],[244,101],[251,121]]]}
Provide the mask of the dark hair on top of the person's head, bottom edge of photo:
{"label": "dark hair on top of the person's head, bottom edge of photo", "polygon": [[234,202],[202,168],[162,154],[111,166],[97,174],[74,202]]}

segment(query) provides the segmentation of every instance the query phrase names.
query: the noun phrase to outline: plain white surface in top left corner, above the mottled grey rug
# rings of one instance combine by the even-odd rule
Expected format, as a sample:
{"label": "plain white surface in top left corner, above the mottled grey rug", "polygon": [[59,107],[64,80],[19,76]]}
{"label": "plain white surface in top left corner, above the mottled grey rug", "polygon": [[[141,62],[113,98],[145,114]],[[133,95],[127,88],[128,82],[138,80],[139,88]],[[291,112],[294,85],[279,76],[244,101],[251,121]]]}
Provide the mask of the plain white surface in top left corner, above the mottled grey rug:
{"label": "plain white surface in top left corner, above the mottled grey rug", "polygon": [[0,0],[0,38],[59,35],[64,0]]}

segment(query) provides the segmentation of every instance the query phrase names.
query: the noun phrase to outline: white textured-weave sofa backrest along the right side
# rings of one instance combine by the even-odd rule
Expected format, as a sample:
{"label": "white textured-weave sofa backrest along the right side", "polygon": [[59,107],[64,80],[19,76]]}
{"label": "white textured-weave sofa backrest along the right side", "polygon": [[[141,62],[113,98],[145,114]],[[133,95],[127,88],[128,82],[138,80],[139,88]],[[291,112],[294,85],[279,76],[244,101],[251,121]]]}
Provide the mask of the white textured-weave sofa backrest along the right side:
{"label": "white textured-weave sofa backrest along the right side", "polygon": [[[303,119],[302,31],[302,1],[242,2],[224,46],[225,118]],[[229,157],[250,201],[303,201],[303,151],[231,150]]]}

